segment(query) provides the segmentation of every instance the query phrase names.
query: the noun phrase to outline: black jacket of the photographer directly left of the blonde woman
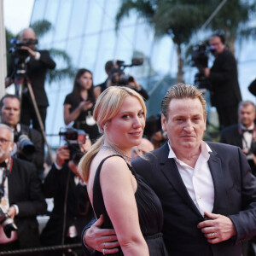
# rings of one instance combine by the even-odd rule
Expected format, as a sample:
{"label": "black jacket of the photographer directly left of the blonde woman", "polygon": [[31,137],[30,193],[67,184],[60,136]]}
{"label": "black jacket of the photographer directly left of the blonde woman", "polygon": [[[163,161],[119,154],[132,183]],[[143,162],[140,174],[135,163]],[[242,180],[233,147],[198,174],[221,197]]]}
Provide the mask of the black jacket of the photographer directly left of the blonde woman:
{"label": "black jacket of the photographer directly left of the blonde woman", "polygon": [[41,234],[44,246],[60,245],[63,231],[64,204],[67,191],[67,217],[65,223],[65,236],[70,226],[75,225],[78,236],[81,236],[84,226],[93,217],[90,199],[87,195],[86,186],[74,183],[74,174],[67,164],[61,170],[52,165],[44,180],[44,195],[54,198],[54,209]]}

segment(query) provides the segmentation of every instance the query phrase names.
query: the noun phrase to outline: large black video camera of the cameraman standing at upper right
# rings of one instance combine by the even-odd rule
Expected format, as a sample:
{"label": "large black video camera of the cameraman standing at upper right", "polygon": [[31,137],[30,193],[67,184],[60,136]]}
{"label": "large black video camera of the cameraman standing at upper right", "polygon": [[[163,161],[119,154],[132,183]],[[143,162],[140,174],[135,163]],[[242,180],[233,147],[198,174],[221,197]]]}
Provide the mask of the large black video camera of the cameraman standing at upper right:
{"label": "large black video camera of the cameraman standing at upper right", "polygon": [[199,89],[209,89],[210,83],[209,80],[205,77],[204,68],[208,67],[209,53],[214,54],[215,49],[212,49],[211,46],[207,43],[201,43],[195,45],[192,52],[192,67],[197,67],[199,70],[195,74],[195,85]]}

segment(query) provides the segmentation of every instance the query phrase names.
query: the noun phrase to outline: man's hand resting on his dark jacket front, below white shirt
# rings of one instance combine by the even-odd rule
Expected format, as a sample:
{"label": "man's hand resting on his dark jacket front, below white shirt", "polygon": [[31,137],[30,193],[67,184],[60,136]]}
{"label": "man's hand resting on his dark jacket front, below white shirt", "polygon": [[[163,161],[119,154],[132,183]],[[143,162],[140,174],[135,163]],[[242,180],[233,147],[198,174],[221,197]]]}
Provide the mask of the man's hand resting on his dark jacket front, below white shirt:
{"label": "man's hand resting on his dark jacket front, below white shirt", "polygon": [[220,241],[229,240],[232,236],[236,236],[236,228],[230,218],[214,213],[205,215],[211,219],[202,221],[197,225],[198,229],[207,237],[209,243],[218,243]]}

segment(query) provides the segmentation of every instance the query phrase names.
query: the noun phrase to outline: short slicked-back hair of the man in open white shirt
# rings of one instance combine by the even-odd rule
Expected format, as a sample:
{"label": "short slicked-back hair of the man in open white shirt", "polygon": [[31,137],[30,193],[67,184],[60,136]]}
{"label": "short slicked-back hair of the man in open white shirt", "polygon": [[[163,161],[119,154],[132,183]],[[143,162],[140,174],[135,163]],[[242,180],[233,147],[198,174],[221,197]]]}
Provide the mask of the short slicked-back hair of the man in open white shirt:
{"label": "short slicked-back hair of the man in open white shirt", "polygon": [[207,102],[203,97],[203,92],[197,87],[191,84],[175,84],[167,92],[161,102],[161,112],[164,114],[166,119],[168,119],[168,109],[172,99],[199,99],[201,106],[203,108],[204,119],[207,119]]}

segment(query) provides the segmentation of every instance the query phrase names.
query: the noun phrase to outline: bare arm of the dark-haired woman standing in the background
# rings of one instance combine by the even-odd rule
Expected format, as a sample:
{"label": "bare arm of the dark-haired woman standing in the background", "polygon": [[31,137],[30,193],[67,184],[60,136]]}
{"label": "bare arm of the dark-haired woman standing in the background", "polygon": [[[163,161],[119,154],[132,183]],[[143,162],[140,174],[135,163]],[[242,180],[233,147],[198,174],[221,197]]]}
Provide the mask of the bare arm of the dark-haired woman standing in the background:
{"label": "bare arm of the dark-haired woman standing in the background", "polygon": [[91,102],[80,102],[78,108],[75,108],[73,112],[70,112],[71,105],[70,104],[64,104],[64,122],[65,125],[68,125],[70,122],[76,120],[79,117],[79,114],[82,111],[86,111],[89,108],[92,108],[93,103]]}

